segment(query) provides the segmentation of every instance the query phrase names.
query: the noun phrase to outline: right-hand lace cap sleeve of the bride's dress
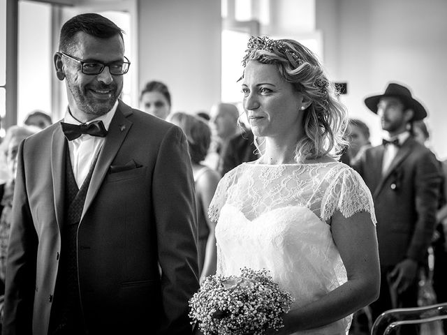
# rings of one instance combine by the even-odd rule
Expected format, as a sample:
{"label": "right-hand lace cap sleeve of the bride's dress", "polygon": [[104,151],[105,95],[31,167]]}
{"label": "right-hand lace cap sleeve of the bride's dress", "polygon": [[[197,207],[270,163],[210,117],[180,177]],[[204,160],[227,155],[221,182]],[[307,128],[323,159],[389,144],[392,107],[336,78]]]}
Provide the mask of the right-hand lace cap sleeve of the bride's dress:
{"label": "right-hand lace cap sleeve of the bride's dress", "polygon": [[321,218],[328,221],[337,209],[345,218],[367,211],[372,223],[377,223],[371,192],[360,174],[351,168],[339,171],[332,179],[321,201]]}

